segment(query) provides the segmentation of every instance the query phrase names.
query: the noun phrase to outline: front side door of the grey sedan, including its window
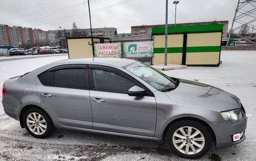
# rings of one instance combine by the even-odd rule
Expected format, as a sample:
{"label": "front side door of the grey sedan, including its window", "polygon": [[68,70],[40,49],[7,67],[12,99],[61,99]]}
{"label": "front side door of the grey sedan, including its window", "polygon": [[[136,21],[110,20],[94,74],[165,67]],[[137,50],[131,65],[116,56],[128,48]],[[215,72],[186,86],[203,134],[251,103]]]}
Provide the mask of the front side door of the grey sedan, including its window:
{"label": "front side door of the grey sedan, including its window", "polygon": [[[89,65],[93,129],[132,135],[154,136],[156,99],[144,85],[125,72]],[[146,96],[129,96],[132,86],[149,91]]]}

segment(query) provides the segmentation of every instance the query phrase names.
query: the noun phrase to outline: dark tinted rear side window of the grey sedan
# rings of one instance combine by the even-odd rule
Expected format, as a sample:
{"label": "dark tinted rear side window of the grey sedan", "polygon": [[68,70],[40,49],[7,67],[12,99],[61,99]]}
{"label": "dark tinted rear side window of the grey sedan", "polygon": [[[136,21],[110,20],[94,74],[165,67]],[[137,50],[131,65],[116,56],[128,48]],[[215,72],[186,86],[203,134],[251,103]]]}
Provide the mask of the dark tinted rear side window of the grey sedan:
{"label": "dark tinted rear side window of the grey sedan", "polygon": [[45,86],[61,88],[88,89],[88,73],[84,68],[65,68],[46,71],[38,76]]}

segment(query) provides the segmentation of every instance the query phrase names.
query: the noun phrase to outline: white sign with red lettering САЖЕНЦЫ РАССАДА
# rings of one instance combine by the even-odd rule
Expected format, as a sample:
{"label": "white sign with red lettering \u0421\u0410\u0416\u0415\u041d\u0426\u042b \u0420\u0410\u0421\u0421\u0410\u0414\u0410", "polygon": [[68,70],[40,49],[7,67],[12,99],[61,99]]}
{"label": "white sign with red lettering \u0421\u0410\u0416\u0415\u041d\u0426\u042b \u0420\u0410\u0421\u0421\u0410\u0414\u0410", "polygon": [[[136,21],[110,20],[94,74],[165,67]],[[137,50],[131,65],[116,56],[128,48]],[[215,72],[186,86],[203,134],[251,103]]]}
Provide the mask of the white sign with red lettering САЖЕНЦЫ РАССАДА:
{"label": "white sign with red lettering \u0421\u0410\u0416\u0415\u041d\u0426\u042b \u0420\u0410\u0421\u0421\u0410\u0414\u0410", "polygon": [[121,43],[94,44],[94,57],[120,58],[121,57]]}

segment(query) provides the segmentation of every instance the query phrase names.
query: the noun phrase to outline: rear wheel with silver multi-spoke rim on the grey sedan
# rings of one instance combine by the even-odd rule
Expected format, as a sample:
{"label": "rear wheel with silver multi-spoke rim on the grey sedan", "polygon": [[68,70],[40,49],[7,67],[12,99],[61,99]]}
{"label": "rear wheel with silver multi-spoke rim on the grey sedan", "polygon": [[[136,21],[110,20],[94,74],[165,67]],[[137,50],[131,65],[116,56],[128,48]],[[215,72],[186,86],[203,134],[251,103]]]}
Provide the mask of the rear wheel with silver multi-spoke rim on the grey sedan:
{"label": "rear wheel with silver multi-spoke rim on the grey sedan", "polygon": [[29,134],[39,139],[48,137],[54,130],[51,118],[38,108],[29,108],[24,113],[23,122]]}

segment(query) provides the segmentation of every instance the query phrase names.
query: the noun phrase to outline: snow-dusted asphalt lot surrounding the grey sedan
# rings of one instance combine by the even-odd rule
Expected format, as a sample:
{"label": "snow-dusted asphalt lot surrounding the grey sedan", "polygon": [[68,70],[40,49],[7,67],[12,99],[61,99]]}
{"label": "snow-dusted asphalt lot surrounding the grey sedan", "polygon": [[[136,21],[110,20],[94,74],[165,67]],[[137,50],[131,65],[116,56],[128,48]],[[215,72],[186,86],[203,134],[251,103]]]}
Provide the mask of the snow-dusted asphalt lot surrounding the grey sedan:
{"label": "snow-dusted asphalt lot surrounding the grey sedan", "polygon": [[[22,75],[67,56],[0,62],[0,86],[4,80]],[[221,54],[220,67],[188,67],[164,71],[167,75],[217,86],[241,99],[248,116],[246,140],[226,149],[214,146],[199,160],[255,160],[256,154],[256,51]],[[2,93],[2,92],[1,92]],[[176,157],[158,142],[111,135],[57,130],[48,139],[35,139],[18,121],[3,113],[0,104],[0,160],[186,160]]]}

